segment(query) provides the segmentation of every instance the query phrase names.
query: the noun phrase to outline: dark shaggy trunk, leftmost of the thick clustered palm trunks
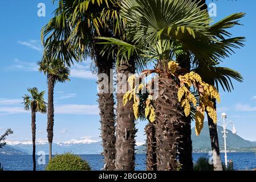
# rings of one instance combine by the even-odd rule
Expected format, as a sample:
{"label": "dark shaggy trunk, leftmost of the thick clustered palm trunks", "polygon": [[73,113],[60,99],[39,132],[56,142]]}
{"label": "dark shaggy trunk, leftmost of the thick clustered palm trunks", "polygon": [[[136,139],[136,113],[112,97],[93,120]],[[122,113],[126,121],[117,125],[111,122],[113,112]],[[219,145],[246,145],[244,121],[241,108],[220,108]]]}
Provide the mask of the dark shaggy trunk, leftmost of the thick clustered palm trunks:
{"label": "dark shaggy trunk, leftmost of the thick clustered palm trunks", "polygon": [[[102,34],[102,36],[110,36],[107,32],[106,34]],[[113,82],[112,82],[112,74],[111,69],[113,68],[113,60],[110,58],[111,56],[102,56],[100,54],[103,46],[100,44],[94,44],[94,61],[98,70],[98,74],[105,73],[108,77],[108,89],[107,92],[99,92],[97,94],[100,109],[100,123],[101,123],[101,138],[102,138],[102,146],[103,152],[101,153],[104,156],[104,170],[113,171],[115,170],[115,155],[116,155],[116,136],[115,136],[115,112],[114,106],[115,101],[113,98]],[[101,82],[103,80],[98,80]],[[104,80],[106,81],[106,80]],[[104,89],[104,88],[100,88]]]}

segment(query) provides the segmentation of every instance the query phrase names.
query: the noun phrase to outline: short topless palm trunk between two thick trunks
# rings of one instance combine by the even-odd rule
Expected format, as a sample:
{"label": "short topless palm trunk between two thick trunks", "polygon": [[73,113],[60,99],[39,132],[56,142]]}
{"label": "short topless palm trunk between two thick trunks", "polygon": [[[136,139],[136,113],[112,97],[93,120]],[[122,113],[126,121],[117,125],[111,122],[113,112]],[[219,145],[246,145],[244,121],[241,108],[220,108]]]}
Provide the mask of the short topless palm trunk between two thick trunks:
{"label": "short topless palm trunk between two thick trunks", "polygon": [[145,127],[145,133],[147,134],[147,171],[157,170],[157,158],[156,158],[156,130],[153,123],[148,123]]}

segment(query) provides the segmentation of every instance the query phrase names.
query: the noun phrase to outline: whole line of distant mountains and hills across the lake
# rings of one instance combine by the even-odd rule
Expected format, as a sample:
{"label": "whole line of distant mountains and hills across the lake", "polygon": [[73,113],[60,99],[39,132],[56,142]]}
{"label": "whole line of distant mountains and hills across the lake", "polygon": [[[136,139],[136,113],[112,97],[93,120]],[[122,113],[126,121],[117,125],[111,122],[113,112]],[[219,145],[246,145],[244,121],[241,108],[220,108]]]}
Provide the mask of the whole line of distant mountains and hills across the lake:
{"label": "whole line of distant mountains and hills across the lake", "polygon": [[[218,126],[218,137],[220,142],[220,149],[224,148],[224,138],[222,137],[222,127]],[[230,130],[227,130],[227,149],[235,151],[255,151],[256,142],[250,142],[238,135],[233,135]],[[239,131],[238,131],[239,132]],[[194,152],[208,152],[210,151],[210,137],[207,123],[205,123],[204,129],[202,129],[199,137],[196,136],[194,128],[192,129],[192,143]],[[6,146],[7,147],[7,146]],[[17,151],[22,151],[27,154],[32,154],[31,142],[25,143],[12,143],[11,146]],[[137,154],[143,154],[145,152],[145,146],[139,146],[137,148]],[[44,151],[48,154],[47,142],[36,143],[36,153],[38,151]],[[52,145],[52,154],[63,154],[64,152],[72,152],[74,154],[100,154],[103,151],[101,142],[64,142],[54,143]],[[1,151],[0,151],[1,152]],[[10,152],[10,154],[12,154]]]}

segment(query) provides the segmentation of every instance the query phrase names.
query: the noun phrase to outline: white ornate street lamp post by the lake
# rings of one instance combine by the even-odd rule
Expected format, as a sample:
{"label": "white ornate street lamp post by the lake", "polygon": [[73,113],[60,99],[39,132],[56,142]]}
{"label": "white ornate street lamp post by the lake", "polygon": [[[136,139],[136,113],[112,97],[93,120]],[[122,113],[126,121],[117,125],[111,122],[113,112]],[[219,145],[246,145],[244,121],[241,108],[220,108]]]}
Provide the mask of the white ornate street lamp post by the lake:
{"label": "white ornate street lamp post by the lake", "polygon": [[222,113],[221,114],[221,118],[222,118],[223,122],[221,122],[221,121],[218,121],[218,122],[220,122],[222,127],[223,127],[223,131],[221,131],[221,133],[223,133],[223,138],[224,138],[225,166],[227,168],[227,149],[226,149],[226,138],[227,138],[227,135],[226,135],[227,131],[226,131],[226,129],[227,129],[227,124],[231,123],[233,125],[233,129],[232,129],[232,133],[233,134],[237,134],[237,130],[235,129],[234,123],[227,119],[226,113]]}

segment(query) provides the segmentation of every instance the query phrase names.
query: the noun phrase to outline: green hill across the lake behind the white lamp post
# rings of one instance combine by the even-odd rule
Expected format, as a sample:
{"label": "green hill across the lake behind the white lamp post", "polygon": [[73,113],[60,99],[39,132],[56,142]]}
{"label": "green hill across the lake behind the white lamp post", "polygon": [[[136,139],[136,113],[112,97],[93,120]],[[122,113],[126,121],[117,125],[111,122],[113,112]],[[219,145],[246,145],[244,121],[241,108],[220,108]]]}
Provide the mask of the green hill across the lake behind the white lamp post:
{"label": "green hill across the lake behind the white lamp post", "polygon": [[[223,128],[218,126],[218,139],[220,144],[220,150],[224,150],[224,138],[221,131]],[[227,150],[234,150],[234,151],[256,151],[256,142],[251,142],[249,140],[245,140],[238,135],[232,134],[230,130],[227,130]],[[238,131],[239,132],[239,131]],[[211,150],[210,146],[210,134],[208,123],[205,123],[205,127],[202,129],[201,134],[197,137],[194,128],[192,129],[192,146],[194,152],[208,152]],[[145,152],[145,145],[139,146],[137,153],[143,154]]]}

